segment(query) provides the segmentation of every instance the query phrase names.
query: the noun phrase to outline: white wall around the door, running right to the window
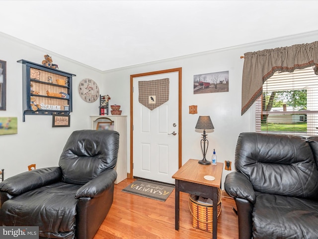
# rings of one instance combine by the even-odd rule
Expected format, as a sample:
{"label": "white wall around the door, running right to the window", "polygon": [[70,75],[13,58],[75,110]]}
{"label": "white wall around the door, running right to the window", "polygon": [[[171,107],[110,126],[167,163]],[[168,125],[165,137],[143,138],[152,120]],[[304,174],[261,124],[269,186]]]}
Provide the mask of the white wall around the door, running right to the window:
{"label": "white wall around the door, running right to the window", "polygon": [[[127,100],[130,94],[130,75],[182,67],[182,163],[189,158],[202,159],[201,134],[195,131],[195,125],[199,116],[209,115],[215,129],[214,132],[208,133],[207,158],[212,157],[215,148],[218,161],[224,163],[225,160],[231,160],[232,170],[235,170],[235,147],[239,133],[255,131],[254,107],[241,116],[244,59],[240,59],[240,56],[249,51],[310,43],[316,41],[317,36],[318,31],[114,69],[105,72],[107,91],[112,97],[111,104],[121,105],[123,114],[129,116],[130,102]],[[220,71],[229,71],[229,92],[193,94],[193,75]],[[198,114],[189,114],[190,105],[198,106]],[[128,127],[128,137],[129,135]],[[128,171],[129,168],[128,162]],[[223,183],[229,172],[223,171]]]}

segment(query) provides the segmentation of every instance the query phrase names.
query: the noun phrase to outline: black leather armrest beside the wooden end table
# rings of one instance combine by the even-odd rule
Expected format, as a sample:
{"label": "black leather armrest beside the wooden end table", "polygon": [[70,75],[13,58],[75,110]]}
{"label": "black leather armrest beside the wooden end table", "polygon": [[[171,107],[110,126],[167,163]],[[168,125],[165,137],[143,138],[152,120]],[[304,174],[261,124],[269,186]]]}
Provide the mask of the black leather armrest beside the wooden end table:
{"label": "black leather armrest beside the wooden end table", "polygon": [[231,197],[255,203],[256,196],[253,186],[248,178],[240,172],[229,173],[225,178],[224,188]]}

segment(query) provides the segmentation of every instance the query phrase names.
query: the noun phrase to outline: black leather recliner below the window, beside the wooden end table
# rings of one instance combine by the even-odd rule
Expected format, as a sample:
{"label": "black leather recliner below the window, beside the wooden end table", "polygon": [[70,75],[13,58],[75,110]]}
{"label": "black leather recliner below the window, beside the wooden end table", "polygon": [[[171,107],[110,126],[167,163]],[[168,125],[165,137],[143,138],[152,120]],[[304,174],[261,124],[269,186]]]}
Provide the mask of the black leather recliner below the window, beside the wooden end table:
{"label": "black leather recliner below the window, beside the wooden end table", "polygon": [[245,132],[236,172],[225,180],[235,199],[239,239],[318,237],[318,136]]}

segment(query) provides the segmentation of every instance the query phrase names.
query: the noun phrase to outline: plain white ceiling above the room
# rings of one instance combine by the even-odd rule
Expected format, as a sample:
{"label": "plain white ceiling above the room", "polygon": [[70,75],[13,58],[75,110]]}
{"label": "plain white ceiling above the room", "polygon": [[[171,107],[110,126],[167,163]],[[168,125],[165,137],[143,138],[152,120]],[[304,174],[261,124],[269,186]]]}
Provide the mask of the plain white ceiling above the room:
{"label": "plain white ceiling above the room", "polygon": [[318,1],[0,0],[0,9],[0,32],[106,71],[315,31]]}

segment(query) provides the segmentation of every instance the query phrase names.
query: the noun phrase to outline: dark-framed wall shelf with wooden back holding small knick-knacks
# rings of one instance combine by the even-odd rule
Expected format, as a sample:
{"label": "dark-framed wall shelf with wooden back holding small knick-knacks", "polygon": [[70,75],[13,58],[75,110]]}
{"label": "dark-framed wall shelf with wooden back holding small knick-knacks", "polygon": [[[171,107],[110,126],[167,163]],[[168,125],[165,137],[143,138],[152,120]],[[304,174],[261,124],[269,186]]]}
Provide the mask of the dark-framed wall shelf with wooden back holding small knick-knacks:
{"label": "dark-framed wall shelf with wooden back holding small knick-knacks", "polygon": [[[69,115],[72,112],[72,77],[76,75],[26,60],[17,62],[23,65],[23,122],[25,115]],[[56,94],[48,96],[47,92]],[[56,97],[58,94],[67,94],[68,98]],[[31,104],[40,107],[32,109]]]}

